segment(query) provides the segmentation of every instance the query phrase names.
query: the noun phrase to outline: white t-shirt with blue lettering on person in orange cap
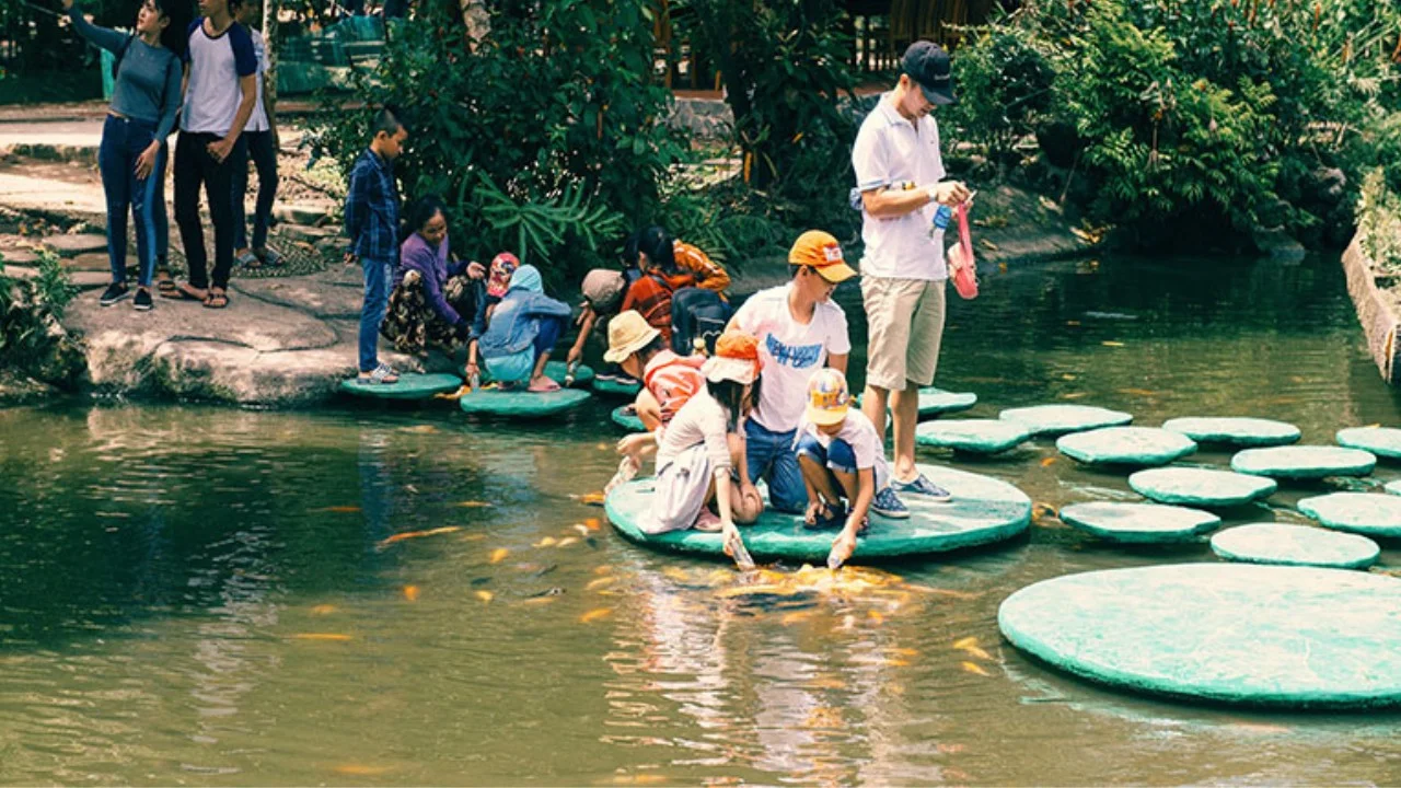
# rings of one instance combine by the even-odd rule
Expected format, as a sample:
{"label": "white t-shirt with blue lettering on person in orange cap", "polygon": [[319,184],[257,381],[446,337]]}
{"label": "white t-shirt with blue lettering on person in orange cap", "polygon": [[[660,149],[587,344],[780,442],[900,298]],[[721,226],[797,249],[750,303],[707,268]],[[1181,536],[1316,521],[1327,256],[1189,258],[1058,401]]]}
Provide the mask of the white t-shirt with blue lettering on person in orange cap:
{"label": "white t-shirt with blue lettering on person in orange cap", "polygon": [[736,325],[759,338],[764,366],[759,404],[750,416],[769,432],[792,432],[803,421],[807,381],[827,366],[827,355],[852,352],[846,314],[832,301],[820,303],[807,325],[793,320],[789,282],[761,290],[734,314]]}

